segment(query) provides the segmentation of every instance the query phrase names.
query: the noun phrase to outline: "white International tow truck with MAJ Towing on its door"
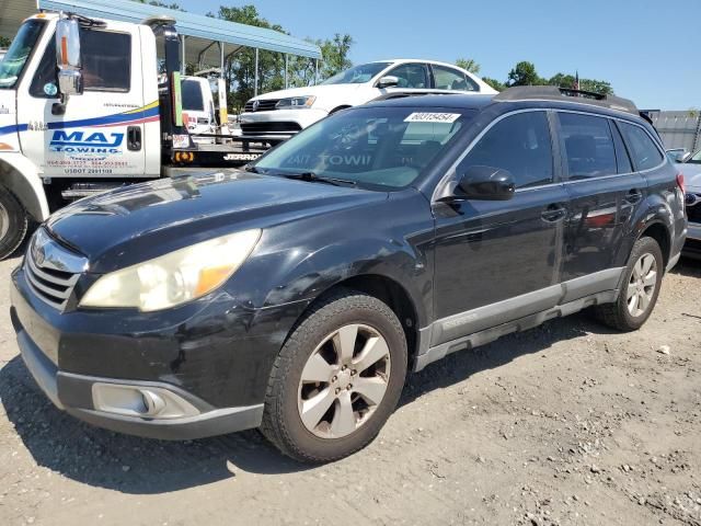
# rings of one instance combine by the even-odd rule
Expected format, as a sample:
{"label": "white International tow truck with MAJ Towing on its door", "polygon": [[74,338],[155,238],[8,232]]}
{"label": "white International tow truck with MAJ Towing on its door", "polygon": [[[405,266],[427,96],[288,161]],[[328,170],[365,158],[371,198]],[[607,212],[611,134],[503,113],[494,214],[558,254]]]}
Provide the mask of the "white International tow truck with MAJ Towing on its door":
{"label": "white International tow truck with MAJ Towing on its door", "polygon": [[[71,199],[262,153],[249,139],[193,140],[174,22],[43,12],[20,26],[0,61],[0,259]],[[226,101],[217,118],[228,123]]]}

